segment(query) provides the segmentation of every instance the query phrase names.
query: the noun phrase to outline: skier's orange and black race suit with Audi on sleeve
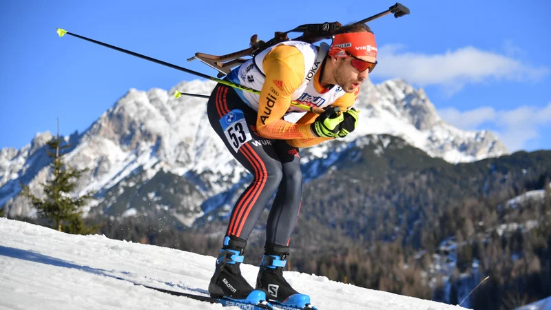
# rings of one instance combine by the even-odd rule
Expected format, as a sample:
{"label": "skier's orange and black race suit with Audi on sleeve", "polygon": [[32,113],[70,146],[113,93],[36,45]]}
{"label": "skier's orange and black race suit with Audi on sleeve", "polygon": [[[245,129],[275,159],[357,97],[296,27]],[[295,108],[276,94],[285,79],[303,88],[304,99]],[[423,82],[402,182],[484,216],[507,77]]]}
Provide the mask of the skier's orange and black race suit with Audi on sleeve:
{"label": "skier's orange and black race suit with Audi on sleeve", "polygon": [[[272,48],[261,65],[264,82],[258,101],[251,103],[250,97],[245,98],[242,91],[218,84],[210,96],[207,113],[212,127],[231,154],[253,175],[251,184],[231,211],[226,235],[247,240],[277,190],[267,222],[266,243],[289,245],[302,196],[298,147],[331,139],[313,135],[310,124],[318,115],[312,112],[306,112],[296,123],[284,121],[284,115],[292,110],[291,99],[305,99],[304,104],[311,105],[323,100],[326,106],[330,104],[347,110],[353,105],[359,89],[355,93],[340,94],[329,103],[322,96],[297,94],[300,87],[304,88],[308,76],[304,53],[293,45]],[[320,84],[324,63],[319,65],[320,70],[309,76],[313,83],[309,87],[324,94],[331,88],[324,89]],[[236,75],[243,70],[236,68],[226,79],[238,83]],[[247,77],[243,75],[242,78]]]}

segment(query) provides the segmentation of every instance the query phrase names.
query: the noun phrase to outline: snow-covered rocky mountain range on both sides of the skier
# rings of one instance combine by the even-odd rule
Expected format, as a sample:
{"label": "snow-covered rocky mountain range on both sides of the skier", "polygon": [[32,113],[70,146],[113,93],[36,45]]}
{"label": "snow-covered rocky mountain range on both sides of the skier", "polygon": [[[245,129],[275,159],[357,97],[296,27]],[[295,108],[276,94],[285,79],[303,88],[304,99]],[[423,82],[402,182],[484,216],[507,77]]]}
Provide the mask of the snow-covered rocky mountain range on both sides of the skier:
{"label": "snow-covered rocky mountain range on both sides of the skier", "polygon": [[[507,153],[490,132],[466,132],[442,121],[423,90],[415,90],[402,80],[364,84],[355,104],[362,111],[360,125],[345,141],[368,134],[391,134],[450,163]],[[212,81],[195,80],[179,83],[169,91],[131,89],[85,132],[65,137],[73,145],[65,162],[89,169],[79,180],[79,192],[101,194],[130,176],[139,178],[132,182],[143,182],[162,170],[196,184],[197,192],[186,196],[191,211],[199,210],[205,199],[238,186],[247,172],[211,129],[206,100],[190,96],[176,99],[171,95],[175,90],[210,94],[214,85]],[[35,185],[48,176],[45,149],[50,138],[52,134],[45,132],[22,149],[0,150],[0,207],[7,207],[10,215],[32,211],[28,203],[14,197],[21,182],[40,194]],[[307,162],[327,152],[332,152],[327,144],[316,145],[302,160]]]}

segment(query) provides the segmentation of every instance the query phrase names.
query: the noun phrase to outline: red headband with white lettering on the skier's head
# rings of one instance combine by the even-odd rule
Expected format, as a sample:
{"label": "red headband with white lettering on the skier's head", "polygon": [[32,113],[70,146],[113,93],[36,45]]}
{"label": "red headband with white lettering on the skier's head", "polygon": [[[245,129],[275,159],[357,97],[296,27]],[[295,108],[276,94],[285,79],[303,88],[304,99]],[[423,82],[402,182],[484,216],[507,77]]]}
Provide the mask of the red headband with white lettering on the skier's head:
{"label": "red headband with white lettering on the skier's head", "polygon": [[335,34],[329,56],[344,58],[348,56],[346,52],[356,57],[373,57],[373,59],[366,60],[374,63],[377,60],[375,35],[367,31]]}

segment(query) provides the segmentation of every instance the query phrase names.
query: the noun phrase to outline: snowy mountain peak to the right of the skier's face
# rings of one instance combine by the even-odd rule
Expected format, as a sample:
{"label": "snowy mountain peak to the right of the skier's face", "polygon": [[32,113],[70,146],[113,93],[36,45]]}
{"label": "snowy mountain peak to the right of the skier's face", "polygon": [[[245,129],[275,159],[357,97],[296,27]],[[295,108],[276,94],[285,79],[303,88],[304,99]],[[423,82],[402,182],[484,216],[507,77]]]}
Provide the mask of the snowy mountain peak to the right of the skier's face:
{"label": "snowy mountain peak to the right of the skier's face", "polygon": [[443,121],[424,90],[402,80],[373,85],[360,93],[358,106],[366,110],[356,134],[391,134],[450,163],[479,161],[508,151],[488,131],[464,131]]}

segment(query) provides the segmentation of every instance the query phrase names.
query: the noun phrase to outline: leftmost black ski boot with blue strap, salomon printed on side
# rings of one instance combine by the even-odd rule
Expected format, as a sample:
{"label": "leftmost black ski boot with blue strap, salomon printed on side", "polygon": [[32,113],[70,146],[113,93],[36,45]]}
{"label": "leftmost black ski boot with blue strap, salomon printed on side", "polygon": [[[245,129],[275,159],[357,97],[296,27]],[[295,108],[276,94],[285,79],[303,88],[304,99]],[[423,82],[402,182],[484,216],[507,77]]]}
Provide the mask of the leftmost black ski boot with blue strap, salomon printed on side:
{"label": "leftmost black ski boot with blue strap, salomon printed on side", "polygon": [[243,249],[247,241],[237,237],[224,238],[224,246],[216,259],[216,270],[209,284],[213,298],[229,298],[249,304],[259,304],[266,299],[266,293],[253,289],[241,276],[239,265],[243,262]]}

